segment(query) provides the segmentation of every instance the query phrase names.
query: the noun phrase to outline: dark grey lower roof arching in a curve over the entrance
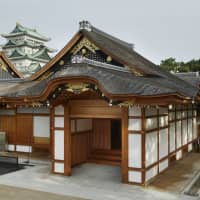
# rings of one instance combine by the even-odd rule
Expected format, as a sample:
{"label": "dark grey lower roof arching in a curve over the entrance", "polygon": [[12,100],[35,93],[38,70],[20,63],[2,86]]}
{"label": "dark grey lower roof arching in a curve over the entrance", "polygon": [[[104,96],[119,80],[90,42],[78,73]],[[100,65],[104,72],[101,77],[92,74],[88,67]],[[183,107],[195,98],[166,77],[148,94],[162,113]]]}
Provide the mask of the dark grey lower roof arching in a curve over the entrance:
{"label": "dark grey lower roof arching in a curve over the entrance", "polygon": [[[176,83],[162,77],[140,77],[131,73],[113,71],[99,68],[85,63],[70,64],[54,73],[50,78],[43,81],[14,83],[9,92],[0,89],[0,96],[38,96],[41,95],[46,85],[54,79],[61,77],[88,77],[96,80],[111,94],[151,96],[160,94],[179,93],[182,96],[195,96],[198,89],[190,86],[189,90],[180,92]],[[4,83],[5,84],[5,83]],[[10,83],[11,84],[11,83]],[[1,84],[0,84],[1,86]],[[8,91],[8,90],[6,90]],[[16,91],[16,92],[15,92]]]}

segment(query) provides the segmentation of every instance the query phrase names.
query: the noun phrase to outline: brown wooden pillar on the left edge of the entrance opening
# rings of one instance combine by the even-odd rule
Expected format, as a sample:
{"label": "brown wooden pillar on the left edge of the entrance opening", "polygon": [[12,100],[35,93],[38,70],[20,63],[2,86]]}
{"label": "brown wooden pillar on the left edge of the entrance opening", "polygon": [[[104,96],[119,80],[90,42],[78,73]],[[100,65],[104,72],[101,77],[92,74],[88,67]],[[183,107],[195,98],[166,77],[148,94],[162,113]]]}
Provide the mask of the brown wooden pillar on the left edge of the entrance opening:
{"label": "brown wooden pillar on the left edge of the entrance opening", "polygon": [[65,105],[65,124],[64,124],[64,175],[71,175],[71,131],[70,131],[70,117],[69,104]]}

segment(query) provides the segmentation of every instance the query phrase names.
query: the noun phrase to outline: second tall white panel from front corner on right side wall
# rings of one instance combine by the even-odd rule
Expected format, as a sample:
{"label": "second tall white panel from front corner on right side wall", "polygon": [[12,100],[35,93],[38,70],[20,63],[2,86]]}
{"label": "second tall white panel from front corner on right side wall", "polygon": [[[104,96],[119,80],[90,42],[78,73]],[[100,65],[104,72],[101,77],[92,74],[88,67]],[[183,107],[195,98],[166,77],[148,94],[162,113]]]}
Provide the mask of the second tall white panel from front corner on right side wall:
{"label": "second tall white panel from front corner on right side wall", "polygon": [[159,158],[168,155],[168,129],[161,129],[159,132]]}

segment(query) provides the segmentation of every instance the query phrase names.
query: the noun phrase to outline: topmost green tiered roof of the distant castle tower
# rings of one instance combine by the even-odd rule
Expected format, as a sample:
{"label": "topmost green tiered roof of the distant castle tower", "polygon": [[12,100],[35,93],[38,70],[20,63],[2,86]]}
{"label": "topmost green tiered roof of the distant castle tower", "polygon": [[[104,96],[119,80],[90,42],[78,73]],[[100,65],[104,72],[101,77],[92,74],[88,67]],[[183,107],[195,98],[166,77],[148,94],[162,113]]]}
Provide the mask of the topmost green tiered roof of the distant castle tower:
{"label": "topmost green tiered roof of the distant castle tower", "polygon": [[5,38],[20,36],[20,35],[29,35],[31,37],[37,38],[42,41],[50,40],[50,38],[38,33],[36,29],[31,29],[31,28],[22,26],[19,23],[16,23],[14,30],[11,31],[9,34],[2,34],[2,36]]}

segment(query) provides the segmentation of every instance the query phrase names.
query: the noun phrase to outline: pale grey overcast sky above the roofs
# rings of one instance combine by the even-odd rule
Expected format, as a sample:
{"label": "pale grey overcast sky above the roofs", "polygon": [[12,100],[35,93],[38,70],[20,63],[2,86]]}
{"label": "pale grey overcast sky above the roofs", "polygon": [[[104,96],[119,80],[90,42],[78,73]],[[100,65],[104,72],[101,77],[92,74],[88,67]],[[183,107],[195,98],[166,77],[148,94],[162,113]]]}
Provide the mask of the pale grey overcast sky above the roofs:
{"label": "pale grey overcast sky above the roofs", "polygon": [[0,7],[0,33],[20,22],[51,37],[49,46],[58,50],[84,19],[157,64],[200,58],[199,0],[0,0]]}

